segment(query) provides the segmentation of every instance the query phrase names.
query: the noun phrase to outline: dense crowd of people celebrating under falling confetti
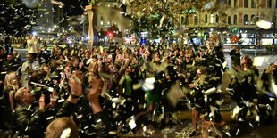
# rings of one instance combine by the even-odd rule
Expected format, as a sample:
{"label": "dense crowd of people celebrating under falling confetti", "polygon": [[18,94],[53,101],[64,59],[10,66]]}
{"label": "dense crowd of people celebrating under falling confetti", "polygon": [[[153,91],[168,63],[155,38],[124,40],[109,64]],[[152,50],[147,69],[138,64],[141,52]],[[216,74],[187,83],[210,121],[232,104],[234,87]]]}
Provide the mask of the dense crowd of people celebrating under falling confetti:
{"label": "dense crowd of people celebrating under falling confetti", "polygon": [[[276,65],[258,79],[251,58],[241,58],[234,47],[228,70],[220,42],[214,33],[205,46],[137,45],[132,50],[111,44],[90,50],[55,45],[49,51],[47,45],[37,49],[29,37],[23,63],[16,51],[1,48],[1,129],[13,137],[113,137],[135,133],[147,123],[173,126],[171,113],[183,99],[192,112],[191,135],[198,134],[198,121],[224,125],[223,73],[231,77],[232,98],[243,109],[238,120],[244,121],[245,103],[256,103],[256,91],[275,95]],[[258,80],[262,86],[256,88]]]}

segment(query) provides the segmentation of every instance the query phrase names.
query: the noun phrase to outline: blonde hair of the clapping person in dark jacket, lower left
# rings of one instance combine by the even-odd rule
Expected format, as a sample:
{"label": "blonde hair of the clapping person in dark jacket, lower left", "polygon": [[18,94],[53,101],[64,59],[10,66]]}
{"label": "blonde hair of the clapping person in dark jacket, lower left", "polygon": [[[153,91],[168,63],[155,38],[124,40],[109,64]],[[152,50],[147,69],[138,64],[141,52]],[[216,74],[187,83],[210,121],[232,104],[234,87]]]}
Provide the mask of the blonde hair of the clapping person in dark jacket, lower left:
{"label": "blonde hair of the clapping person in dark jacket, lower left", "polygon": [[9,94],[9,100],[11,103],[11,111],[13,113],[13,110],[16,107],[17,103],[21,102],[21,97],[23,96],[23,90],[25,88],[21,87],[20,89],[18,89],[17,91],[11,91],[11,93]]}

